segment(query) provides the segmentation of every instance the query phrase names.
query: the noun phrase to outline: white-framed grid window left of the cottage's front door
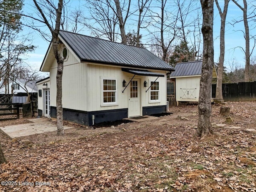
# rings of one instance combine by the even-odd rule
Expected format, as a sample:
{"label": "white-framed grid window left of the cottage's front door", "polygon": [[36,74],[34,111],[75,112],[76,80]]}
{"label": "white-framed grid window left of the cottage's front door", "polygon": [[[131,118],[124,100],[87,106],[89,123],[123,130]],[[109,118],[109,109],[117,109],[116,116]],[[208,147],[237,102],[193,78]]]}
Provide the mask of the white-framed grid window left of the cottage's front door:
{"label": "white-framed grid window left of the cottage's front door", "polygon": [[103,79],[103,103],[111,104],[116,103],[117,92],[116,92],[116,80],[114,79]]}

